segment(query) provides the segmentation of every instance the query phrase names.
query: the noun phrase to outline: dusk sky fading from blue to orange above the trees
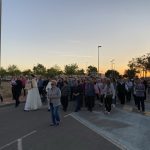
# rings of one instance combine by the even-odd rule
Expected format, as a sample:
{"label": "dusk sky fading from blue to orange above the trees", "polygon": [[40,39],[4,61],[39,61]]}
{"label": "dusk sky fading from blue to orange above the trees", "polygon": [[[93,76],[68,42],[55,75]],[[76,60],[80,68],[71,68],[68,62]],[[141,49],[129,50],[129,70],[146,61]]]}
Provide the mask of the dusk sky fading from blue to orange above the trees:
{"label": "dusk sky fading from blue to orange above the trees", "polygon": [[123,73],[150,52],[150,0],[3,0],[2,67],[77,63]]}

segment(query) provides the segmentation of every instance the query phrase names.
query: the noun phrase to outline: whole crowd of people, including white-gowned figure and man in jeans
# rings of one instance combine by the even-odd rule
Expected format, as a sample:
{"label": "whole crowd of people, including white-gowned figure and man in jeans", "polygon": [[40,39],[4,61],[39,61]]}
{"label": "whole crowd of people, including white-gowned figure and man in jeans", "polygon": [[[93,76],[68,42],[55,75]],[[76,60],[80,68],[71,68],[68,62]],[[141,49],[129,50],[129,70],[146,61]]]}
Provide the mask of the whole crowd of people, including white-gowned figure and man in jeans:
{"label": "whole crowd of people, including white-gowned figure and man in jeans", "polygon": [[105,114],[110,114],[116,103],[129,103],[134,98],[134,104],[139,112],[145,111],[147,82],[144,79],[113,79],[101,77],[57,77],[45,78],[21,76],[12,78],[12,96],[16,101],[15,107],[20,104],[19,97],[23,91],[26,97],[24,110],[31,111],[41,108],[42,103],[48,104],[51,111],[52,124],[59,125],[59,109],[67,111],[70,101],[74,101],[74,112],[86,107],[92,112],[97,100],[99,106],[104,106]]}

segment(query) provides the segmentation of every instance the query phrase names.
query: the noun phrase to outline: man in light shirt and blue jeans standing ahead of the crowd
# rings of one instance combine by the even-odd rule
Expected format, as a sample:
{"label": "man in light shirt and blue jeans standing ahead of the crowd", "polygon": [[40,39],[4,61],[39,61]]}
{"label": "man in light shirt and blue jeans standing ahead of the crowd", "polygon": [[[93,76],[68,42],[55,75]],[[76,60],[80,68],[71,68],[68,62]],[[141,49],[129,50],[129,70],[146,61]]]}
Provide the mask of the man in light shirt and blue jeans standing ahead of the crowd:
{"label": "man in light shirt and blue jeans standing ahead of the crowd", "polygon": [[49,102],[50,102],[50,109],[51,109],[51,126],[57,126],[60,124],[60,115],[59,115],[59,106],[61,105],[60,98],[61,98],[61,91],[57,87],[57,81],[51,81],[51,89],[48,89],[47,93]]}

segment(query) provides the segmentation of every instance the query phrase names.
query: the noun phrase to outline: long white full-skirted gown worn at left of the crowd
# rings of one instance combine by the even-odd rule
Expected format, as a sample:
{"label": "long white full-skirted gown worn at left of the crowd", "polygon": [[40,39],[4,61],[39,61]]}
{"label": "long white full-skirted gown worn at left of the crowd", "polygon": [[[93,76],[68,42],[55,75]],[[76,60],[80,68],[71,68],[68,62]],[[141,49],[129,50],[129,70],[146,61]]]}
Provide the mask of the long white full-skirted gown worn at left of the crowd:
{"label": "long white full-skirted gown worn at left of the crowd", "polygon": [[31,80],[31,88],[28,89],[27,99],[24,110],[36,110],[42,106],[39,90],[37,88],[37,82],[35,79]]}

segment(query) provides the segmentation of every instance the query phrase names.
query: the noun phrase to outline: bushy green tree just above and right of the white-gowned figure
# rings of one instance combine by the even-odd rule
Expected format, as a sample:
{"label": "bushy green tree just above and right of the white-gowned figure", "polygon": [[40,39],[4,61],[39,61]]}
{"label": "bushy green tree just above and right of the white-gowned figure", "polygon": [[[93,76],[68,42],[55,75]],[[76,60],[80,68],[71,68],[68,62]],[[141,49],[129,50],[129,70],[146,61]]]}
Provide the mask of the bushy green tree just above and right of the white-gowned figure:
{"label": "bushy green tree just above and right of the white-gowned figure", "polygon": [[45,75],[46,68],[42,64],[37,64],[37,66],[33,67],[33,73],[36,75]]}

